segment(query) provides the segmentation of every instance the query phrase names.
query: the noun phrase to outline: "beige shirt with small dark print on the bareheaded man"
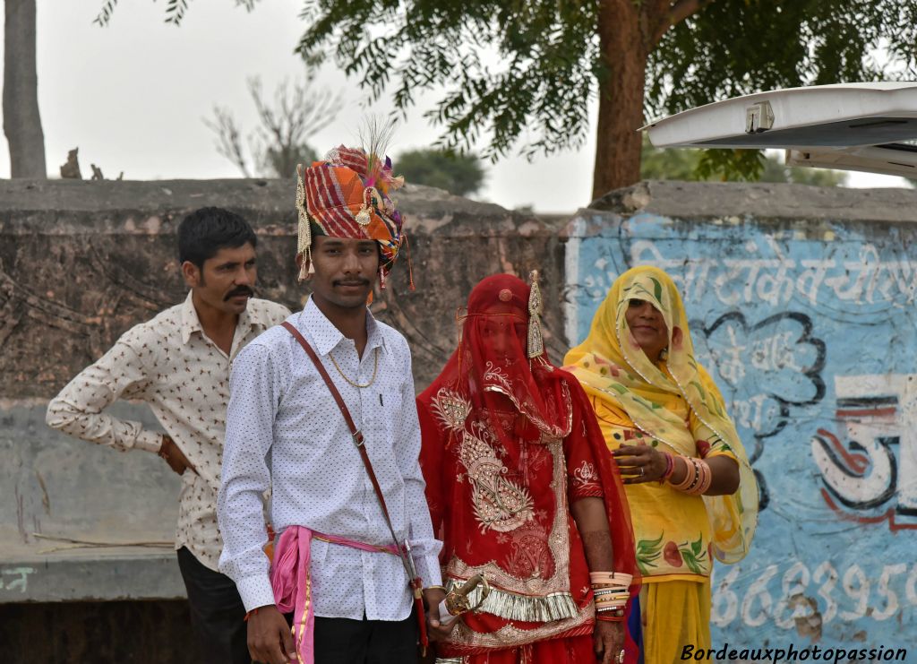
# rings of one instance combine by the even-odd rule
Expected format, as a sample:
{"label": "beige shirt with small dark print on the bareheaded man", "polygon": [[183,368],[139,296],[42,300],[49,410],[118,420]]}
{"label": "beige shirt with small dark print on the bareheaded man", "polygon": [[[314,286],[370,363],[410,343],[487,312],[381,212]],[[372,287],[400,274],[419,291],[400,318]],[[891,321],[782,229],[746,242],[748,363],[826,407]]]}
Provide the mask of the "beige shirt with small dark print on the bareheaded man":
{"label": "beige shirt with small dark print on the bareheaded man", "polygon": [[175,548],[187,547],[216,570],[223,548],[216,492],[229,402],[229,371],[238,351],[290,315],[282,304],[251,298],[239,316],[229,356],[204,335],[191,293],[182,304],[127,330],[48,405],[49,426],[119,450],[157,452],[161,434],[105,413],[117,399],[149,404],[197,472],[182,475]]}

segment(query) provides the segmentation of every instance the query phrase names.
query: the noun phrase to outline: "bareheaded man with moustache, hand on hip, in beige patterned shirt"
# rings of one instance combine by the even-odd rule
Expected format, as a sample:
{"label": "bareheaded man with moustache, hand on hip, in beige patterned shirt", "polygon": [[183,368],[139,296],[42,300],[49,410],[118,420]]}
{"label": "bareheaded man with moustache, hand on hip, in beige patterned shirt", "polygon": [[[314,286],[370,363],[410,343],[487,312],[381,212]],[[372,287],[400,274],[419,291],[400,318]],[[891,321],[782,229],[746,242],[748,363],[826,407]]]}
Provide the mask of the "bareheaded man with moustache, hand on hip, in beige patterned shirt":
{"label": "bareheaded man with moustache, hand on hip, in beige patterned shirt", "polygon": [[[182,304],[134,326],[48,406],[49,426],[119,450],[154,452],[182,476],[175,534],[179,568],[205,661],[249,664],[245,609],[217,571],[223,548],[216,493],[229,370],[242,349],[290,314],[255,299],[258,239],[240,216],[205,207],[178,228]],[[105,413],[118,399],[149,404],[166,433]]]}

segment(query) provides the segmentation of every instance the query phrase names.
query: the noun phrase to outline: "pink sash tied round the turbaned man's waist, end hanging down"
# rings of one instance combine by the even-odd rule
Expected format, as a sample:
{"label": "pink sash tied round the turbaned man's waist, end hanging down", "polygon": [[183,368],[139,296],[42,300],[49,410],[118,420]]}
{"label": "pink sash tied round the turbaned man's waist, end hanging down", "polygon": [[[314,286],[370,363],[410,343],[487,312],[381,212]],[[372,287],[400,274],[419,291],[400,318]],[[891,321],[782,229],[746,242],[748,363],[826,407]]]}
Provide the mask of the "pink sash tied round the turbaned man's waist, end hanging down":
{"label": "pink sash tied round the turbaned man's waist, end hanging down", "polygon": [[293,641],[297,664],[315,662],[315,608],[312,602],[312,579],[309,576],[312,538],[361,551],[398,555],[393,544],[375,546],[346,537],[322,535],[304,526],[289,526],[283,531],[274,551],[271,566],[271,587],[274,601],[283,614],[293,612]]}

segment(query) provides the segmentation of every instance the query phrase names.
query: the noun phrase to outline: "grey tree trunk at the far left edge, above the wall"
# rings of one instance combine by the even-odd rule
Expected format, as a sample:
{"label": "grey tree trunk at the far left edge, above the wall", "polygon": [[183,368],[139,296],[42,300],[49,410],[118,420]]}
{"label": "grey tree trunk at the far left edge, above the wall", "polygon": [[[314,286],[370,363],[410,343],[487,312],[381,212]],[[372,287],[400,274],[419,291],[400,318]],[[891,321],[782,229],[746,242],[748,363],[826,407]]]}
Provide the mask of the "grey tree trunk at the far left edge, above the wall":
{"label": "grey tree trunk at the far left edge, above the wall", "polygon": [[35,64],[35,2],[6,0],[3,130],[9,142],[10,175],[45,179],[45,135],[41,131]]}

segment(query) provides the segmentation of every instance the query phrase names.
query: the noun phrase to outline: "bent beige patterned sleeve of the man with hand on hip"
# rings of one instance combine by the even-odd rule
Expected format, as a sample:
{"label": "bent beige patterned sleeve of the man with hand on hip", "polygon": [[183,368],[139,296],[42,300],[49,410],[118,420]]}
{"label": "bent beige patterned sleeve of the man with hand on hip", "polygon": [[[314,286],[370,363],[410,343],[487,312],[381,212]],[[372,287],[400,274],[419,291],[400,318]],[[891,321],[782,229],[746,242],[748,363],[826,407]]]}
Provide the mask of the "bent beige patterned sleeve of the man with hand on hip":
{"label": "bent beige patterned sleeve of the man with hand on hip", "polygon": [[98,445],[159,452],[161,434],[104,412],[121,397],[143,398],[147,385],[143,362],[122,338],[51,400],[45,421],[51,428]]}

